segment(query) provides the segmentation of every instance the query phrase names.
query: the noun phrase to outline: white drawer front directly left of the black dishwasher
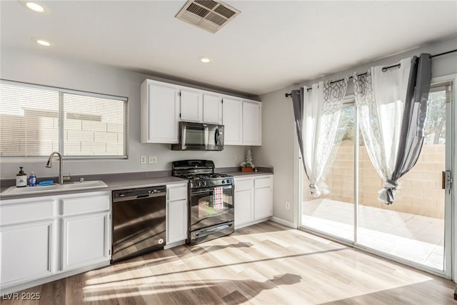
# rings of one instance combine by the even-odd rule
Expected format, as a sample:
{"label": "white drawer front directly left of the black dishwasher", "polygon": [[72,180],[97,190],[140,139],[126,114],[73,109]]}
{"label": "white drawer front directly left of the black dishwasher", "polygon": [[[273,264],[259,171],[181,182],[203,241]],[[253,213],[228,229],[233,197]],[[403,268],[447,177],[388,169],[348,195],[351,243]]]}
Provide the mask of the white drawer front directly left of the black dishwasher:
{"label": "white drawer front directly left of the black dishwasher", "polygon": [[62,199],[62,214],[82,214],[109,210],[109,195]]}

